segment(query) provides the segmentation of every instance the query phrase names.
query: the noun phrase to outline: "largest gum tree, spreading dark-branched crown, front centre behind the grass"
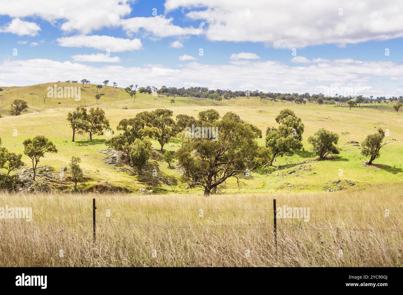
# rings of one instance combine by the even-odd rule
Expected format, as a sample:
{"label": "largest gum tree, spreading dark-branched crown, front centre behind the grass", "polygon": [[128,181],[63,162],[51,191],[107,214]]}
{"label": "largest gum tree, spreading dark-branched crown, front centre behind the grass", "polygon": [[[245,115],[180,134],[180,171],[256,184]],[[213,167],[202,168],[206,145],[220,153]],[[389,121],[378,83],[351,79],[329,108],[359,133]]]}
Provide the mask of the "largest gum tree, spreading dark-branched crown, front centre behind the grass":
{"label": "largest gum tree, spreading dark-branched crown, front centre behind the grass", "polygon": [[[202,122],[200,122],[202,123]],[[218,140],[214,138],[185,138],[175,153],[183,169],[183,178],[190,187],[202,186],[210,195],[226,179],[246,173],[264,165],[270,158],[268,149],[258,146],[261,137],[258,128],[250,124],[223,119],[199,127],[218,127]],[[209,125],[209,126],[207,126]]]}

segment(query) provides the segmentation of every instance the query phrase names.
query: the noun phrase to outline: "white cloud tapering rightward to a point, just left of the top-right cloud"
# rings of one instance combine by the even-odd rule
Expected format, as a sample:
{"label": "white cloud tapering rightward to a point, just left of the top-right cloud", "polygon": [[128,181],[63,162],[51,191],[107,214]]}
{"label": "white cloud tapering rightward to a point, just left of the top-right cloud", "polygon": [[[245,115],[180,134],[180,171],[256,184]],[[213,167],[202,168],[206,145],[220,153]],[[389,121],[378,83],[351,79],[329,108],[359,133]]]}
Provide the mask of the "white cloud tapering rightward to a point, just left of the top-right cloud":
{"label": "white cloud tapering rightward to a point, just left of the top-right cloud", "polygon": [[179,27],[172,24],[172,20],[172,18],[166,19],[164,16],[158,15],[156,17],[122,19],[120,24],[129,35],[138,33],[140,29],[152,33],[154,37],[200,35],[203,33],[202,27]]}

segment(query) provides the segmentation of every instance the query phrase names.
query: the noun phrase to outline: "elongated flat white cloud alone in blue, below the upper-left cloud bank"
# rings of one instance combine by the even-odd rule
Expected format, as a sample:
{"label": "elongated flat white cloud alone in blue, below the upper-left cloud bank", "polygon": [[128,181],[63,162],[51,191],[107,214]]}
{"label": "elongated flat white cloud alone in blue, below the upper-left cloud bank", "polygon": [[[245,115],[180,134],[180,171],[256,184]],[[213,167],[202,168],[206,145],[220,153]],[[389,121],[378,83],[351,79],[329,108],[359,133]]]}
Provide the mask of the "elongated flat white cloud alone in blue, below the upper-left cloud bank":
{"label": "elongated flat white cloud alone in blue, below the upper-left cloud bank", "polygon": [[57,41],[62,47],[89,47],[104,51],[109,48],[112,52],[140,50],[142,47],[140,39],[123,39],[99,35],[62,37],[58,38]]}

